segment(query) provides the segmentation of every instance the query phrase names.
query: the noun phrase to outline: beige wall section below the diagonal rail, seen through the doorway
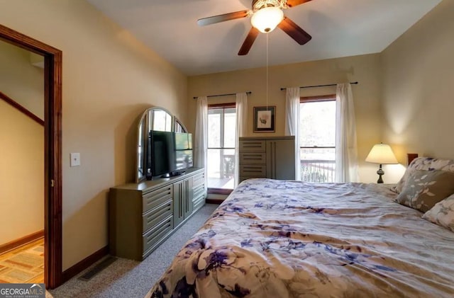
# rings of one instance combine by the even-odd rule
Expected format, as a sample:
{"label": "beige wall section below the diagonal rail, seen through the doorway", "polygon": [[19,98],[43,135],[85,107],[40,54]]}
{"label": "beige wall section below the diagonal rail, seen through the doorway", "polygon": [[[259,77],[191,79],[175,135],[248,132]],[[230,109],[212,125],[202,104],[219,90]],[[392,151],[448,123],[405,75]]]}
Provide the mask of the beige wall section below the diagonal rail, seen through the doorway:
{"label": "beige wall section below the diagonal rail, seen through the doorway", "polygon": [[0,99],[0,139],[1,245],[44,229],[44,127]]}

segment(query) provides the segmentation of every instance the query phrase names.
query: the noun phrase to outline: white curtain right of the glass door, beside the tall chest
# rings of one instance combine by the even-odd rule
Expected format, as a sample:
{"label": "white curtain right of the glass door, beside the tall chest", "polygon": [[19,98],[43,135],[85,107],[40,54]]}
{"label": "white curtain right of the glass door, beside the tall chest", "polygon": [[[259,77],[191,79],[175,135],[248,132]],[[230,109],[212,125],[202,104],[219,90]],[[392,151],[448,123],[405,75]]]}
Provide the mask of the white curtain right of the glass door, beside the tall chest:
{"label": "white curtain right of the glass door, beside the tall chest", "polygon": [[246,135],[246,123],[248,121],[248,95],[246,93],[236,93],[236,139],[235,139],[235,187],[238,185],[240,175],[240,155],[238,154],[238,144],[240,137]]}

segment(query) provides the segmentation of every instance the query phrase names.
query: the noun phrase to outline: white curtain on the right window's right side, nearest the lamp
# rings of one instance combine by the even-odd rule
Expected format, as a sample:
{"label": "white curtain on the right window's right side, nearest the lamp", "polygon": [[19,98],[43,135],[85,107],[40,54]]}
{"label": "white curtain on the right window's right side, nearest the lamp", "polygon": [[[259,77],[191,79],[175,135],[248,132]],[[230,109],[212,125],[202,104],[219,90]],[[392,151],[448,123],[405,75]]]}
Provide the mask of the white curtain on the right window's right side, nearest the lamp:
{"label": "white curtain on the right window's right side, nearest the lamp", "polygon": [[350,84],[336,90],[336,182],[358,182],[355,108]]}

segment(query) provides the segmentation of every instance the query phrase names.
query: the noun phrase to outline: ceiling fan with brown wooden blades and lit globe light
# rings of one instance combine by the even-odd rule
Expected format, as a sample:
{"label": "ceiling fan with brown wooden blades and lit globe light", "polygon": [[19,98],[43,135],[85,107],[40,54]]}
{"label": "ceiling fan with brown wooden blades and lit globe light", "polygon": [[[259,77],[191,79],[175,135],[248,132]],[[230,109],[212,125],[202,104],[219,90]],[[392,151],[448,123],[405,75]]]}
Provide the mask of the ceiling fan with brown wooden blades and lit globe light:
{"label": "ceiling fan with brown wooden blades and lit globe light", "polygon": [[276,27],[279,27],[299,45],[304,45],[311,40],[311,35],[306,33],[299,25],[284,16],[282,9],[292,8],[294,6],[304,4],[311,0],[253,0],[252,10],[236,11],[234,13],[225,13],[218,16],[210,16],[208,18],[200,18],[197,24],[211,25],[223,21],[235,20],[236,18],[245,18],[252,16],[250,23],[253,25],[250,28],[248,36],[246,36],[243,45],[238,52],[238,55],[247,55],[250,47],[252,47],[258,33],[270,33]]}

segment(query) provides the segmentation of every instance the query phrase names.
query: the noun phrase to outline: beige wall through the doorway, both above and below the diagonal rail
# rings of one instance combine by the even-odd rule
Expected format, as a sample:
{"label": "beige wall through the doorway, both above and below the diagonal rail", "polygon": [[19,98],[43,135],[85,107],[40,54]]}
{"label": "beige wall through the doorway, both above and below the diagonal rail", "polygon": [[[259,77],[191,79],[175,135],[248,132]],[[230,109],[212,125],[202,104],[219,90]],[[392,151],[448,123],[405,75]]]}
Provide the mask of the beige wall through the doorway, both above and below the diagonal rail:
{"label": "beige wall through the doorway, both above and below the diagonal rail", "polygon": [[[43,69],[30,52],[1,40],[0,53],[0,91],[44,119]],[[44,229],[44,127],[0,99],[0,139],[4,244]]]}

